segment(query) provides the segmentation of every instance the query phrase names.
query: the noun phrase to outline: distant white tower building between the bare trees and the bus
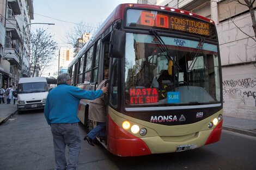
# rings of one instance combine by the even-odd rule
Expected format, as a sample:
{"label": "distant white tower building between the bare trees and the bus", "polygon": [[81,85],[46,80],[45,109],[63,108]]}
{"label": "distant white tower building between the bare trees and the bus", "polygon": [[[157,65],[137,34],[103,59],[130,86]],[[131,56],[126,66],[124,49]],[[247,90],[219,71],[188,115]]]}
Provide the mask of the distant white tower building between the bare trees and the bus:
{"label": "distant white tower building between the bare trees and the bus", "polygon": [[72,48],[61,47],[59,49],[59,59],[58,59],[58,73],[68,72],[68,65],[74,58],[74,53]]}

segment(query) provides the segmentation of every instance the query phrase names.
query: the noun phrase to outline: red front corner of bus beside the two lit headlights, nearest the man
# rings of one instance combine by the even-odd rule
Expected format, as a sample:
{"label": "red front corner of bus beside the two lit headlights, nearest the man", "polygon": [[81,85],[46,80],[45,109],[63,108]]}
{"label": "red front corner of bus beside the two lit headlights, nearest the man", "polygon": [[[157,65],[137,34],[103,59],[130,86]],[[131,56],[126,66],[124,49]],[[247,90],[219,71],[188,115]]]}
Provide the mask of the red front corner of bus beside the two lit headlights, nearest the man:
{"label": "red front corner of bus beside the two lit headlights, nearest the man", "polygon": [[108,150],[118,156],[142,156],[151,154],[141,139],[118,127],[108,116]]}

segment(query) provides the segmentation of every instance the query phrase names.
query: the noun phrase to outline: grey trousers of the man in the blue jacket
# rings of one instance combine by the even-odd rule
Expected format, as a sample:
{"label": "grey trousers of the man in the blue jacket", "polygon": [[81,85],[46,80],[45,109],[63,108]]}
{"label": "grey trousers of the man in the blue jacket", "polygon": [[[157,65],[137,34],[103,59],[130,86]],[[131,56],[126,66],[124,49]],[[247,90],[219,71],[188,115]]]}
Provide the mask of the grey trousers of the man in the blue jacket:
{"label": "grey trousers of the man in the blue jacket", "polygon": [[[81,150],[81,139],[78,123],[52,124],[53,146],[55,154],[54,169],[77,169]],[[69,148],[68,163],[66,163],[65,149]]]}

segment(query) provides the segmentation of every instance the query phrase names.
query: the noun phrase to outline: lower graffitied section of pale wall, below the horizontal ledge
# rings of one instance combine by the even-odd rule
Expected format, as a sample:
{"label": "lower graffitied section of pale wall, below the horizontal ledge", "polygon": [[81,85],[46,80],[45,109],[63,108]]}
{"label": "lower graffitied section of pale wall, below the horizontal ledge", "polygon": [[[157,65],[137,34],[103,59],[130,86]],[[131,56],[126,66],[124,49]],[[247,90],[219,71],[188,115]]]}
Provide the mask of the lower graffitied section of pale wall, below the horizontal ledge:
{"label": "lower graffitied section of pale wall, below the horizontal ledge", "polygon": [[256,63],[222,67],[224,115],[256,120]]}

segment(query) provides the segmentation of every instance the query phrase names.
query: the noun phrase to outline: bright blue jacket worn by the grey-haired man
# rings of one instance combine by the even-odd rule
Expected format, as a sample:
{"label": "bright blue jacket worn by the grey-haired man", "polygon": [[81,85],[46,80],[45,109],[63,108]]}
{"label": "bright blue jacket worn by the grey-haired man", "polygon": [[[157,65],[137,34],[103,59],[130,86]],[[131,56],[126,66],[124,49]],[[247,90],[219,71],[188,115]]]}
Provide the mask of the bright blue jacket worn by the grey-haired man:
{"label": "bright blue jacket worn by the grey-haired man", "polygon": [[78,104],[81,99],[93,100],[102,96],[102,90],[87,91],[75,86],[61,84],[51,90],[45,103],[45,118],[52,123],[77,123]]}

